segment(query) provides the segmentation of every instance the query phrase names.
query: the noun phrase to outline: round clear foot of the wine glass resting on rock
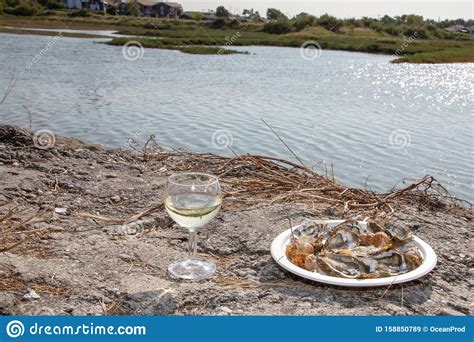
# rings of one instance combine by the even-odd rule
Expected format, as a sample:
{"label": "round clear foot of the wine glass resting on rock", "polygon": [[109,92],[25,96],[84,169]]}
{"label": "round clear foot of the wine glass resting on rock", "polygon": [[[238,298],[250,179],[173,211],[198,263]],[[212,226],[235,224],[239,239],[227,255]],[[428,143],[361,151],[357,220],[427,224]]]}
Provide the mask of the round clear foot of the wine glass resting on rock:
{"label": "round clear foot of the wine glass resting on rock", "polygon": [[173,278],[186,280],[208,279],[215,271],[216,265],[204,260],[178,260],[168,266],[168,272]]}

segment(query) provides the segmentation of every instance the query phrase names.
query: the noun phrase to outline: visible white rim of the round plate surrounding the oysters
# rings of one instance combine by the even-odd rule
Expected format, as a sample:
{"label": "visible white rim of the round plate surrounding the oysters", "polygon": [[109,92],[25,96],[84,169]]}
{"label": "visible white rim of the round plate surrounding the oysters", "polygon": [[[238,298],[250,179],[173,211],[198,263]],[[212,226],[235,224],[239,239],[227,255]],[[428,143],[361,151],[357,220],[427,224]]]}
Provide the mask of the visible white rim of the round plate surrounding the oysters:
{"label": "visible white rim of the round plate surrounding the oysters", "polygon": [[[315,221],[316,222],[316,221]],[[322,222],[322,221],[321,221]],[[328,228],[332,228],[337,226],[338,224],[344,222],[343,220],[330,220],[324,221],[324,223],[328,224]],[[366,222],[359,221],[359,225],[367,226]],[[298,229],[300,226],[293,227],[293,231]],[[290,243],[291,240],[291,229],[288,229],[278,235],[275,240],[272,242],[271,252],[272,257],[275,261],[287,271],[294,273],[300,277],[318,281],[320,283],[326,283],[331,285],[338,285],[338,286],[348,286],[348,287],[371,287],[371,286],[385,286],[390,284],[400,284],[405,283],[407,281],[411,281],[420,277],[423,277],[427,273],[429,273],[435,266],[436,266],[436,254],[431,248],[423,240],[414,237],[413,240],[416,243],[417,247],[419,248],[422,256],[423,256],[423,263],[413,271],[400,274],[393,277],[385,277],[385,278],[377,278],[377,279],[346,279],[346,278],[338,278],[323,275],[317,272],[307,271],[303,268],[300,268],[290,262],[285,255],[286,246]]]}

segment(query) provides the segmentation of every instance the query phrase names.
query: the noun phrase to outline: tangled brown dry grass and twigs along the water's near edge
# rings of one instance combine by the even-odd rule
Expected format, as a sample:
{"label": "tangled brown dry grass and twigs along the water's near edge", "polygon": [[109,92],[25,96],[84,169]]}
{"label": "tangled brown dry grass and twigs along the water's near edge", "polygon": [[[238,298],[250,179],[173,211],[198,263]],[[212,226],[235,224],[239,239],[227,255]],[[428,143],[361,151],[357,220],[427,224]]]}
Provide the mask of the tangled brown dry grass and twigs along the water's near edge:
{"label": "tangled brown dry grass and twigs along the water's near edge", "polygon": [[341,213],[355,209],[375,215],[391,214],[403,203],[443,207],[465,202],[451,196],[432,176],[404,188],[375,193],[344,186],[302,164],[275,157],[246,154],[231,158],[161,148],[146,150],[144,154],[147,161],[159,161],[173,172],[218,175],[224,184],[227,202],[233,205],[303,203],[311,208],[323,203]]}

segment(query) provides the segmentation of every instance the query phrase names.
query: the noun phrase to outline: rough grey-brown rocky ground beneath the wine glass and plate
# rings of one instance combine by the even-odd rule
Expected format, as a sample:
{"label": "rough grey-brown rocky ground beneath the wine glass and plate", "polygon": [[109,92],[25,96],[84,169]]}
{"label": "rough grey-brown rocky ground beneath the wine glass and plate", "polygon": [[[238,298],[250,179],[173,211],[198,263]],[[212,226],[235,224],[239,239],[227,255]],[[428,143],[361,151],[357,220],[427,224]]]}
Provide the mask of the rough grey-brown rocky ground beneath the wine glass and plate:
{"label": "rough grey-brown rocky ground beneath the wine glass and plate", "polygon": [[[166,162],[58,138],[38,149],[0,126],[0,313],[3,315],[470,315],[472,212],[402,205],[395,217],[432,245],[438,265],[403,285],[352,289],[298,278],[270,255],[294,223],[336,218],[297,205],[224,205],[199,233],[218,266],[202,282],[169,278],[187,232],[155,210]],[[11,202],[13,201],[13,202]],[[224,202],[225,204],[225,202]],[[10,217],[9,219],[6,218]],[[97,215],[95,218],[91,215]],[[109,221],[104,221],[104,217]],[[5,225],[6,226],[6,225]]]}

